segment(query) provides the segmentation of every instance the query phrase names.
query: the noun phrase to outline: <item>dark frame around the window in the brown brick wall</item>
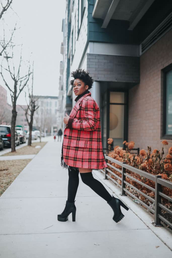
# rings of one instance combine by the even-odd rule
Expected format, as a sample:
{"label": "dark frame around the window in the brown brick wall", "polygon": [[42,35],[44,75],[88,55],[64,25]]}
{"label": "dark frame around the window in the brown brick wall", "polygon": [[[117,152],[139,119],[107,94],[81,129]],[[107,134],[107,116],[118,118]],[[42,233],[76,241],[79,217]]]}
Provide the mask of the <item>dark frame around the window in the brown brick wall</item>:
{"label": "dark frame around the window in the brown brick wall", "polygon": [[162,132],[160,139],[172,139],[172,134],[166,134],[166,91],[167,91],[167,85],[166,85],[166,74],[172,70],[172,63],[168,65],[167,67],[163,68],[162,71]]}

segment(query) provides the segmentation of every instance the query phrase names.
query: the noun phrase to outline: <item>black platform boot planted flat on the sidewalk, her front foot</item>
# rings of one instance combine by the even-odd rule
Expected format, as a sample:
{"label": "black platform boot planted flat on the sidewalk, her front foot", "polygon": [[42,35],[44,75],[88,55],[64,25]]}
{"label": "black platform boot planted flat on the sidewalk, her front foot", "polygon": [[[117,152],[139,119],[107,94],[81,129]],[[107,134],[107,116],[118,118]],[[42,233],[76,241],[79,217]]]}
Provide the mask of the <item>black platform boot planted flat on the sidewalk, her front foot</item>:
{"label": "black platform boot planted flat on the sidewalk, her front foot", "polygon": [[76,217],[76,206],[75,201],[73,203],[69,203],[66,201],[66,206],[64,208],[64,211],[61,214],[57,215],[57,219],[59,221],[67,221],[69,214],[72,212],[72,221],[75,221]]}

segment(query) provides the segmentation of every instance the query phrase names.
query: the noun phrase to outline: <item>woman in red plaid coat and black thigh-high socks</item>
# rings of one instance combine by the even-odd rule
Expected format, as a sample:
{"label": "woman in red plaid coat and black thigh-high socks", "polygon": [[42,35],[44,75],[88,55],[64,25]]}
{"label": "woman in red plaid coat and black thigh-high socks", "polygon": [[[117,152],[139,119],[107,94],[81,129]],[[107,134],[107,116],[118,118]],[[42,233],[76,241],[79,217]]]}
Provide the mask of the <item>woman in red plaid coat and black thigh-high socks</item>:
{"label": "woman in red plaid coat and black thigh-high socks", "polygon": [[62,144],[61,165],[68,168],[68,199],[64,211],[58,214],[59,221],[67,221],[72,213],[75,221],[75,197],[79,184],[79,173],[82,181],[107,201],[113,209],[113,220],[119,222],[124,215],[120,205],[128,210],[121,200],[111,196],[103,184],[92,175],[92,169],[107,167],[104,158],[100,127],[100,110],[88,90],[93,85],[89,72],[81,69],[71,73],[71,85],[77,98],[70,115],[64,117],[66,124]]}

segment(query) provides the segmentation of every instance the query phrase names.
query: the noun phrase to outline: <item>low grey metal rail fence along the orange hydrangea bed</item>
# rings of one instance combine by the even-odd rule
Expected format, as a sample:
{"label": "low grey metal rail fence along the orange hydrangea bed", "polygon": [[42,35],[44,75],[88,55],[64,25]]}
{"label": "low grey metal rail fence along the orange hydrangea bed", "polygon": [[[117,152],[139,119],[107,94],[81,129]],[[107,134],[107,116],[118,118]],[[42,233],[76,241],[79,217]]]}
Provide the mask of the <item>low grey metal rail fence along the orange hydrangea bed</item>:
{"label": "low grey metal rail fence along the orange hydrangea bed", "polygon": [[[165,207],[164,205],[161,204],[161,197],[172,201],[172,198],[169,197],[168,195],[162,193],[162,186],[165,186],[167,188],[172,189],[172,183],[162,179],[160,175],[152,175],[150,173],[147,173],[145,171],[142,171],[138,168],[132,167],[130,165],[127,165],[126,162],[120,162],[117,159],[113,159],[107,155],[105,155],[105,159],[106,160],[110,160],[111,162],[119,165],[122,167],[122,170],[112,166],[111,164],[107,163],[107,165],[111,168],[113,168],[114,170],[118,171],[119,173],[121,173],[122,177],[116,175],[115,173],[113,173],[109,168],[105,168],[104,170],[100,169],[101,172],[104,173],[105,175],[105,179],[110,179],[112,180],[115,184],[117,184],[117,186],[119,186],[121,188],[121,196],[126,196],[126,193],[128,193],[128,195],[132,196],[134,199],[138,200],[139,203],[141,203],[143,206],[145,206],[149,211],[151,211],[154,214],[154,222],[152,223],[154,226],[162,226],[161,221],[165,222],[167,225],[169,225],[172,228],[172,223],[170,221],[168,221],[167,219],[165,219],[162,215],[161,215],[161,209],[167,211],[169,214],[172,215],[172,211],[170,209],[168,209],[167,207]],[[136,174],[139,174],[147,179],[150,179],[152,181],[155,182],[155,189],[148,186],[147,184],[137,180],[136,178],[132,177],[131,175],[126,174],[126,169],[128,169],[129,171],[132,171]],[[115,181],[113,178],[111,178],[110,175],[107,174],[107,172],[109,172],[111,175],[113,175],[114,177],[116,177],[117,179],[121,180],[121,185]],[[132,179],[133,181],[141,184],[142,186],[148,188],[149,190],[153,191],[155,193],[155,199],[153,199],[152,197],[146,195],[145,193],[143,193],[142,191],[140,191],[138,188],[136,188],[135,186],[131,185],[130,183],[126,182],[126,177]],[[152,209],[150,206],[148,206],[147,204],[145,204],[143,201],[141,201],[139,198],[137,198],[135,195],[133,195],[132,193],[130,193],[126,188],[126,184],[130,187],[132,187],[134,190],[136,190],[138,193],[140,193],[141,195],[143,195],[144,197],[148,198],[152,203],[154,203],[154,207],[155,209]]]}

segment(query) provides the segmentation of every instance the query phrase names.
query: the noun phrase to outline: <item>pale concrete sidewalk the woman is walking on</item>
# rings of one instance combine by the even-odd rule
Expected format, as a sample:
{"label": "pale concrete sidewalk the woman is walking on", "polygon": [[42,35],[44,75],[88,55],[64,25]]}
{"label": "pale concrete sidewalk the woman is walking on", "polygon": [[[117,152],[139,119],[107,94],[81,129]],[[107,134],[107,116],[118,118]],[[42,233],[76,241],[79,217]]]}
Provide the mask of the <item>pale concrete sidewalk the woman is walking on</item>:
{"label": "pale concrete sidewalk the woman is walking on", "polygon": [[[57,220],[68,187],[68,171],[60,166],[61,145],[50,139],[0,197],[0,257],[171,257],[131,209],[122,208],[125,217],[115,223],[111,207],[80,175],[76,222],[72,214],[67,222]],[[93,176],[101,180],[102,173],[93,171]],[[110,194],[117,188],[104,186]]]}

